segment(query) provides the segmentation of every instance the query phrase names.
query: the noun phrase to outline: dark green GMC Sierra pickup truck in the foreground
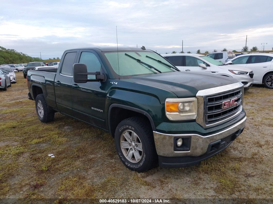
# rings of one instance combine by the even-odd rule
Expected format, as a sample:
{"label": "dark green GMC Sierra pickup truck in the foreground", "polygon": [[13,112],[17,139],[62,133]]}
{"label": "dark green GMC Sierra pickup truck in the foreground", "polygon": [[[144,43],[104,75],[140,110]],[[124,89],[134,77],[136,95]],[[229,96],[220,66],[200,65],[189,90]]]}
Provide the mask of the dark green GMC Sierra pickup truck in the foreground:
{"label": "dark green GMC Sierra pickup truck in the foreground", "polygon": [[246,123],[241,82],[180,72],[144,47],[66,50],[57,70],[29,70],[27,86],[41,122],[60,112],[109,132],[137,172],[196,165]]}

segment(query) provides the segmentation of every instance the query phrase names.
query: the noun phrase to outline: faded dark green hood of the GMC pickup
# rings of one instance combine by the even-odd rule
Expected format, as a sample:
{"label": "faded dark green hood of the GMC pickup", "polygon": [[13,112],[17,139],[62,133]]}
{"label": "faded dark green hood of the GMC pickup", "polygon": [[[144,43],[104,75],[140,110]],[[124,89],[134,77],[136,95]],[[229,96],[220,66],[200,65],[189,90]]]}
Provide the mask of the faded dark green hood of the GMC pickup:
{"label": "faded dark green hood of the GMC pickup", "polygon": [[238,82],[235,78],[188,72],[168,72],[132,77],[126,81],[169,90],[178,97],[193,97],[199,90]]}

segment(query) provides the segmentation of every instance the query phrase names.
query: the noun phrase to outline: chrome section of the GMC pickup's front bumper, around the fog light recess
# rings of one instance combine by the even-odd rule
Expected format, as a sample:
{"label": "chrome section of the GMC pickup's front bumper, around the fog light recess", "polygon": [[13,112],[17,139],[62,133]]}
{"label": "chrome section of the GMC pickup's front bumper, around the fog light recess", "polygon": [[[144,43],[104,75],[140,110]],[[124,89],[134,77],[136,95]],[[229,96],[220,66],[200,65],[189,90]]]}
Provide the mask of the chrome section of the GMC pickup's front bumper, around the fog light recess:
{"label": "chrome section of the GMC pickup's front bumper, around the fog light recess", "polygon": [[[220,132],[211,135],[198,135],[198,134],[164,134],[153,132],[156,152],[159,156],[164,157],[181,157],[181,156],[201,156],[207,152],[210,143],[223,139],[229,135],[234,134],[245,126],[247,117],[236,124],[228,127]],[[191,138],[191,145],[189,151],[174,151],[174,137],[187,137]]]}

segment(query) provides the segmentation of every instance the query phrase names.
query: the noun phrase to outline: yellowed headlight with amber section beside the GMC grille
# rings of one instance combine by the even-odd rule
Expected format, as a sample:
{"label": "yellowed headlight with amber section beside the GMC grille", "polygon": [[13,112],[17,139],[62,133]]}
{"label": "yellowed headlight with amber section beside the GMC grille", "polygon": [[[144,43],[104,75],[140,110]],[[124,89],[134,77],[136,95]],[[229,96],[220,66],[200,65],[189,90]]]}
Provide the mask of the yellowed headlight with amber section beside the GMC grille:
{"label": "yellowed headlight with amber section beside the GMC grille", "polygon": [[167,98],[165,113],[169,120],[194,120],[198,113],[197,98]]}

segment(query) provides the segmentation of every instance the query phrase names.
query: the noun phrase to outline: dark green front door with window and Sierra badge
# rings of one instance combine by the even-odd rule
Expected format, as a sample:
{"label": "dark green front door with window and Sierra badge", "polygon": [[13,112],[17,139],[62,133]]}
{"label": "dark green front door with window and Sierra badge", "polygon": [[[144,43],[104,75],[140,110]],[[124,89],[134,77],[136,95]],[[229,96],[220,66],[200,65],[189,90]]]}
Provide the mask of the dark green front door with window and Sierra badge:
{"label": "dark green front door with window and Sierra badge", "polygon": [[[93,50],[80,50],[77,63],[87,66],[87,72],[105,73],[103,63]],[[95,75],[88,75],[95,79]],[[105,127],[105,83],[88,81],[87,83],[71,82],[73,116],[87,123],[106,129]]]}

